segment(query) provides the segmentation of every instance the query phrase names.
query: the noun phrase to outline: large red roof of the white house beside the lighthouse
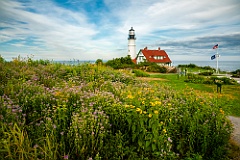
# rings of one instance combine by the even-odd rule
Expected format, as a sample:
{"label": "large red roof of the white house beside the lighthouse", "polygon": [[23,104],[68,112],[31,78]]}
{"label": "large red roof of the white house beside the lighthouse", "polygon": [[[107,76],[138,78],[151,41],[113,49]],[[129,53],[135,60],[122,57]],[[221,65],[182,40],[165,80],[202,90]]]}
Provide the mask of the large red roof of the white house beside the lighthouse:
{"label": "large red roof of the white house beside the lighthouse", "polygon": [[146,48],[142,49],[141,52],[146,57],[146,60],[154,63],[172,63],[167,53],[164,50],[149,50]]}

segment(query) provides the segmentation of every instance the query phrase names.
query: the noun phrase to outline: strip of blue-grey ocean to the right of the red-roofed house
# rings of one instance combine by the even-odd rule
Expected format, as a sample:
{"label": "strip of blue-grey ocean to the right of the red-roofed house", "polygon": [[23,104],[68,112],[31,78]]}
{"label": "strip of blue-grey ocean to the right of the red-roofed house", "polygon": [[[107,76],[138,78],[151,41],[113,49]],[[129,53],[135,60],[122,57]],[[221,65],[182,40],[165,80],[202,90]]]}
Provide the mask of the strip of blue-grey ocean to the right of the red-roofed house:
{"label": "strip of blue-grey ocean to the right of the red-roofed house", "polygon": [[[173,61],[172,66],[177,67],[179,64],[195,64],[197,66],[210,66],[212,68],[216,68],[216,61]],[[236,71],[240,69],[240,61],[218,61],[218,68],[221,71]]]}

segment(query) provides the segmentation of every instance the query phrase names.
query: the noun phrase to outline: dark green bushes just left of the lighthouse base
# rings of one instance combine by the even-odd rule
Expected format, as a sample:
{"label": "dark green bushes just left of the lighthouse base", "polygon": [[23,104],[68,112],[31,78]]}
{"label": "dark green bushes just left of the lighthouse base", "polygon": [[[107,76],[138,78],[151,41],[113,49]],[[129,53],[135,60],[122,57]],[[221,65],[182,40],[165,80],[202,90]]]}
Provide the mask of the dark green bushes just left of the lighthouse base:
{"label": "dark green bushes just left of the lighthouse base", "polygon": [[135,66],[130,56],[109,60],[105,63],[105,65],[114,69],[134,68]]}

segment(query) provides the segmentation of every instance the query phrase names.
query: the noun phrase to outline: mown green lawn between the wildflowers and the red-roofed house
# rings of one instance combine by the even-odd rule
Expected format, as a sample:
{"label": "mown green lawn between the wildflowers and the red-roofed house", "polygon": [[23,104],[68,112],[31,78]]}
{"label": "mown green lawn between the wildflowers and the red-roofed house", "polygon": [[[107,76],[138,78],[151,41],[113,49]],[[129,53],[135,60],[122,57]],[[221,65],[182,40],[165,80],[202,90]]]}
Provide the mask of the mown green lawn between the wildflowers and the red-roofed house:
{"label": "mown green lawn between the wildflowers and the red-roofed house", "polygon": [[[203,93],[217,94],[216,85],[186,83],[184,82],[185,76],[178,76],[177,74],[151,74],[150,77],[164,79],[158,81],[158,83],[167,84],[174,90],[193,88]],[[224,101],[225,106],[223,108],[228,110],[230,115],[240,117],[240,85],[223,85],[219,99]]]}

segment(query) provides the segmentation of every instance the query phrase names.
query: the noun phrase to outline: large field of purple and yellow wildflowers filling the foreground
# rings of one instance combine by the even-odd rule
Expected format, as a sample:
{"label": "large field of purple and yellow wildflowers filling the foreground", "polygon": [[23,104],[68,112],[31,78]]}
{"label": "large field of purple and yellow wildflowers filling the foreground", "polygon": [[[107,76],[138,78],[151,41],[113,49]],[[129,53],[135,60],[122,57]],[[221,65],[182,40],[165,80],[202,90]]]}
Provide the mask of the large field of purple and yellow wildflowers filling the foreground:
{"label": "large field of purple and yellow wildflowers filling the foreground", "polygon": [[0,59],[1,159],[221,159],[219,95],[102,65]]}

